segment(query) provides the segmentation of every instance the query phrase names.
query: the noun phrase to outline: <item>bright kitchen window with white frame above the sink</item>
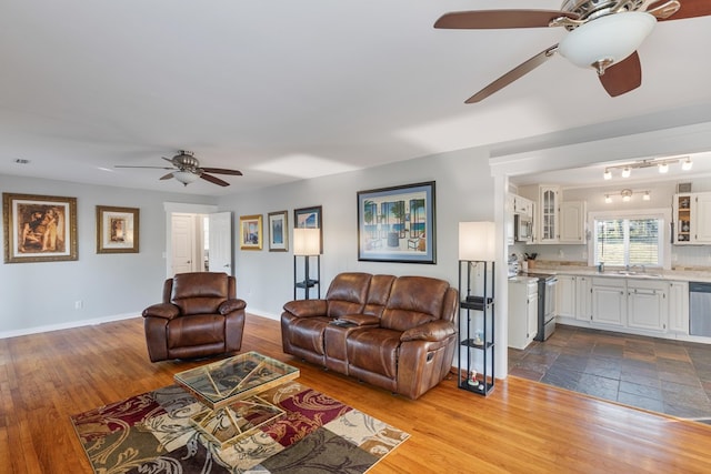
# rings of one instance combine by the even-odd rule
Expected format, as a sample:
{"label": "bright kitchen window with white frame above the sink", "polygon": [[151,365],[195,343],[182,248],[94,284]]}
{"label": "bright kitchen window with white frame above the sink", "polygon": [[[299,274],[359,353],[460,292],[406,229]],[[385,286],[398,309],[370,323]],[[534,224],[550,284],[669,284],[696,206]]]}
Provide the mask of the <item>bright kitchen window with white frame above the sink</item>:
{"label": "bright kitchen window with white frame above the sink", "polygon": [[650,210],[591,213],[591,264],[668,268],[668,219]]}

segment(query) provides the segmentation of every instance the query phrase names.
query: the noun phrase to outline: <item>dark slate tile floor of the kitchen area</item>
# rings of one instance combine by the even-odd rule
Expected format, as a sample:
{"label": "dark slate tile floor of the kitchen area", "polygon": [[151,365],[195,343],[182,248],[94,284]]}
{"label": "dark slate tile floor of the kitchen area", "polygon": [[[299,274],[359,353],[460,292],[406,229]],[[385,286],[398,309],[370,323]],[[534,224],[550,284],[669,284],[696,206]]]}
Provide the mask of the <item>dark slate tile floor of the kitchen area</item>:
{"label": "dark slate tile floor of the kitchen area", "polygon": [[509,374],[711,423],[711,345],[559,324],[509,349]]}

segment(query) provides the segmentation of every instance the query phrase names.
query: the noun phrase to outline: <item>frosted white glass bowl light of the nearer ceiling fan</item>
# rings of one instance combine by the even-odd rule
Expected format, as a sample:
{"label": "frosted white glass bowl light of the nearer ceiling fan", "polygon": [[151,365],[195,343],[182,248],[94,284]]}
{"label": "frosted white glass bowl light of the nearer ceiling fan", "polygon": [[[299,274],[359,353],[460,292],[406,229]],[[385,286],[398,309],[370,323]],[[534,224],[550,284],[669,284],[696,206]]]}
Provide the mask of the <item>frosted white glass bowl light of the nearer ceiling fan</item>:
{"label": "frosted white glass bowl light of the nearer ceiling fan", "polygon": [[638,50],[651,33],[657,18],[629,11],[595,18],[570,31],[558,52],[580,68],[593,67],[599,74]]}

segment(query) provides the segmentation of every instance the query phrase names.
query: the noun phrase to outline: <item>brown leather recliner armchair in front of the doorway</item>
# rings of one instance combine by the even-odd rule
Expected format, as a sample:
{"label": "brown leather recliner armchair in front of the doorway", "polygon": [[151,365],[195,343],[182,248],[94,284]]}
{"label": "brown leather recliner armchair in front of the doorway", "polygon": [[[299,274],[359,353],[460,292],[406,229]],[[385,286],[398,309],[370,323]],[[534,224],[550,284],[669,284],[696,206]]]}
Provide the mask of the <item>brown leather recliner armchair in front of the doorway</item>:
{"label": "brown leather recliner armchair in front of the doorway", "polygon": [[163,284],[163,301],[143,310],[151,362],[239,351],[247,303],[227,273],[180,273]]}

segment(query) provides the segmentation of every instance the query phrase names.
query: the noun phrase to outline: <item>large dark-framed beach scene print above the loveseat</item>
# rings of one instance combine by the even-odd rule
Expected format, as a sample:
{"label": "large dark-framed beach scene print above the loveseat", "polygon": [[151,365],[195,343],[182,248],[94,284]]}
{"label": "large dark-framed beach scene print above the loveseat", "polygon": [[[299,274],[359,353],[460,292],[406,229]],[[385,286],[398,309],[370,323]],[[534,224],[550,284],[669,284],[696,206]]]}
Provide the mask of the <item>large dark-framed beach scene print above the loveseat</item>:
{"label": "large dark-framed beach scene print above the loveseat", "polygon": [[358,192],[358,260],[437,263],[434,181]]}

